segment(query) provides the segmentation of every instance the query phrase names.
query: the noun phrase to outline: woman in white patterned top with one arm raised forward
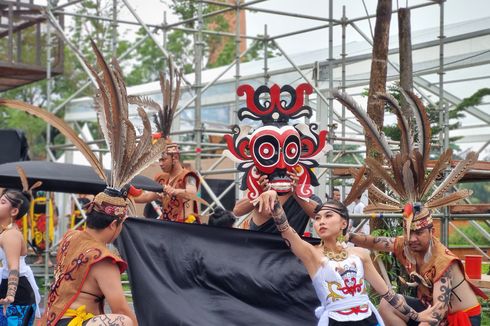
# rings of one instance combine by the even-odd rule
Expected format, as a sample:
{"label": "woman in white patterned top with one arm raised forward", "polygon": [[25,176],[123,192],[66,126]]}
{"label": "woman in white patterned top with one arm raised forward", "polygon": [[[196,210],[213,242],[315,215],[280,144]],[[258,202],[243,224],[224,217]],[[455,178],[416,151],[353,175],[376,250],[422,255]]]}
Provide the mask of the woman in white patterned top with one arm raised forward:
{"label": "woman in white patterned top with one arm raised forward", "polygon": [[436,307],[417,313],[407,305],[403,296],[386,285],[368,251],[343,248],[337,243],[349,224],[349,213],[342,203],[329,199],[318,210],[313,226],[322,241],[319,246],[313,246],[289,226],[274,190],[262,193],[255,202],[259,210],[272,210],[281,236],[310,275],[321,302],[315,310],[318,325],[383,325],[378,311],[369,301],[366,281],[401,314],[415,321],[437,321],[431,317]]}

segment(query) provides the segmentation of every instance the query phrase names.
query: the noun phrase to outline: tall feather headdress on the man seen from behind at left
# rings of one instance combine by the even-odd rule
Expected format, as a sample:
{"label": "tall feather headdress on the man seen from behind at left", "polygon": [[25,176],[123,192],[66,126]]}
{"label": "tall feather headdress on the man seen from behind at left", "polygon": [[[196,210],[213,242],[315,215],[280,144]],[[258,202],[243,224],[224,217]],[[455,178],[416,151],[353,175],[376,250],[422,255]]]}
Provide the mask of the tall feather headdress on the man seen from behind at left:
{"label": "tall feather headdress on the man seen from behind at left", "polygon": [[95,43],[91,41],[91,44],[101,70],[100,75],[87,61],[85,63],[98,85],[95,106],[99,125],[111,153],[110,176],[106,176],[102,164],[87,144],[59,117],[20,101],[0,99],[0,105],[38,116],[67,137],[108,186],[103,193],[95,197],[92,207],[101,213],[120,217],[125,214],[127,208],[127,184],[153,163],[166,145],[163,139],[152,142],[150,121],[141,107],[138,108],[138,114],[143,121],[144,130],[142,136],[137,139],[136,130],[128,116],[128,96],[121,68],[115,59],[112,60],[112,67],[109,66]]}

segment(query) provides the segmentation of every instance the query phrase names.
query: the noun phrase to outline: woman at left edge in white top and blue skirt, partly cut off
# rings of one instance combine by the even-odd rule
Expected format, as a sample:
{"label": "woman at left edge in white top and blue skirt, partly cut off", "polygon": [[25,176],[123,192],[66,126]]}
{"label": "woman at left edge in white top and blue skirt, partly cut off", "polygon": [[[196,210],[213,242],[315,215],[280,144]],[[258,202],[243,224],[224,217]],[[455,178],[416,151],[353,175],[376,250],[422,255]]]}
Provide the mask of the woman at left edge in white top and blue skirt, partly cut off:
{"label": "woman at left edge in white top and blue skirt, partly cut off", "polygon": [[28,189],[24,171],[21,168],[17,170],[23,191],[7,189],[0,196],[0,304],[4,305],[0,325],[33,325],[34,318],[40,317],[37,306],[41,300],[39,289],[31,268],[25,262],[27,245],[15,223],[28,213],[31,190],[39,183]]}

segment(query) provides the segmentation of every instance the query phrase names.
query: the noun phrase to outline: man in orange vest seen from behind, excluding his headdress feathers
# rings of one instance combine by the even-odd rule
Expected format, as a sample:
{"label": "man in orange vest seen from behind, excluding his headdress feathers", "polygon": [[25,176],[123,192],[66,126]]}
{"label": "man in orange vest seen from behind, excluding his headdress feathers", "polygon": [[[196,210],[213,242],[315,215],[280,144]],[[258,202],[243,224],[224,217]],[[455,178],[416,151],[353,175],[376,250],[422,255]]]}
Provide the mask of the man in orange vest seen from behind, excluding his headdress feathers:
{"label": "man in orange vest seen from behind, excluding his headdress feathers", "polygon": [[[121,285],[126,263],[107,248],[126,219],[127,203],[114,191],[98,194],[87,208],[87,228],[68,231],[60,243],[41,325],[138,325]],[[104,299],[111,314],[104,314]]]}

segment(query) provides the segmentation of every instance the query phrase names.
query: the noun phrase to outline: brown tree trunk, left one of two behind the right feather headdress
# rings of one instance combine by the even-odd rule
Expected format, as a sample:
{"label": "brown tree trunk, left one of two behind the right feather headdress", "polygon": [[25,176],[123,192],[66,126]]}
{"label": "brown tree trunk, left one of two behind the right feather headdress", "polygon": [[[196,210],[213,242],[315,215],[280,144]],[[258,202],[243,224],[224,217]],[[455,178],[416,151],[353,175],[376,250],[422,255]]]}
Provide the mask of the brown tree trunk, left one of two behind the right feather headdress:
{"label": "brown tree trunk, left one of two behind the right feather headdress", "polygon": [[[378,7],[376,8],[376,25],[374,27],[371,79],[368,92],[367,113],[380,130],[383,128],[385,104],[384,101],[375,99],[374,95],[378,92],[386,91],[391,1],[392,0],[378,0]],[[373,157],[378,161],[384,159],[383,155],[373,146],[371,137],[367,135],[366,156]],[[376,183],[376,186],[381,187],[380,189],[384,189],[384,185],[379,184],[379,182]],[[384,224],[381,220],[374,219],[371,223],[371,228],[384,228]]]}

